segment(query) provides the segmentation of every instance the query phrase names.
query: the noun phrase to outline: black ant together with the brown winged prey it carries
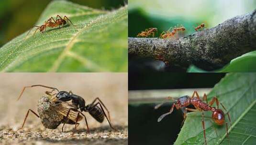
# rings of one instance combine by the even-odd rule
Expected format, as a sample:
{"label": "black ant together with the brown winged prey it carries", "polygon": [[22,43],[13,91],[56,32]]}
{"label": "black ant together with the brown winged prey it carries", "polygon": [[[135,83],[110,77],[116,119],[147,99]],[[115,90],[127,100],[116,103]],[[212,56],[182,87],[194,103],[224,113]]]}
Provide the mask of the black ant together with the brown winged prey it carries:
{"label": "black ant together with the brown winged prey it carries", "polygon": [[[65,124],[75,124],[75,130],[76,130],[76,126],[78,124],[77,122],[82,119],[81,115],[83,115],[85,118],[86,126],[87,126],[87,132],[89,132],[89,126],[87,123],[86,116],[82,114],[82,112],[84,111],[84,112],[88,112],[95,120],[97,120],[100,123],[102,123],[104,121],[104,118],[106,117],[108,123],[110,124],[110,127],[113,130],[116,130],[115,128],[112,127],[110,122],[110,113],[107,107],[102,103],[100,98],[96,98],[91,104],[85,105],[85,100],[81,96],[73,94],[71,91],[70,92],[59,91],[57,88],[54,88],[54,87],[36,84],[36,85],[23,87],[22,92],[18,97],[18,100],[21,98],[22,93],[25,91],[26,88],[31,88],[36,86],[52,89],[52,91],[45,92],[49,97],[46,99],[42,97],[43,101],[41,101],[41,103],[38,104],[39,115],[37,115],[35,112],[29,109],[29,111],[31,111],[37,117],[41,118],[41,121],[46,128],[55,129],[59,124],[63,123],[62,132]],[[53,93],[54,91],[57,91],[57,93]],[[71,101],[71,103],[68,103],[68,101]],[[96,103],[96,101],[98,102]],[[44,105],[40,107],[40,104],[43,104],[42,102],[44,104],[47,103],[48,105],[46,106],[50,106],[50,108],[48,107],[47,109],[45,109]],[[102,106],[107,111],[108,116],[105,113]],[[78,109],[80,109],[80,111]],[[49,110],[55,111],[55,114],[52,112],[49,112]],[[26,114],[23,125],[25,124],[29,111]],[[47,116],[47,118],[44,116]],[[55,117],[49,117],[49,116],[57,116],[56,118],[59,118],[59,119],[56,120]],[[45,118],[47,119],[47,125],[45,125]],[[53,127],[48,127],[48,126],[53,126]]]}

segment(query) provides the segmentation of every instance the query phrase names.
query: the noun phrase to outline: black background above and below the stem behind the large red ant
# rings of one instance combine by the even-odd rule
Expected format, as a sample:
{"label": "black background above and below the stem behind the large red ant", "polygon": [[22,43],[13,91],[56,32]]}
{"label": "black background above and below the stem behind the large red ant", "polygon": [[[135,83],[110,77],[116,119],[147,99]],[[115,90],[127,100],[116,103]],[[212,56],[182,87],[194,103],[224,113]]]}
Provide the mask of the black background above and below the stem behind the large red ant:
{"label": "black background above and below the stem behind the large red ant", "polygon": [[[151,90],[211,88],[225,73],[129,73],[128,76],[129,90]],[[157,118],[172,105],[167,103],[155,110],[158,103],[140,101],[128,104],[129,145],[172,145],[175,142],[182,127],[182,111],[174,109],[172,114],[157,123]]]}

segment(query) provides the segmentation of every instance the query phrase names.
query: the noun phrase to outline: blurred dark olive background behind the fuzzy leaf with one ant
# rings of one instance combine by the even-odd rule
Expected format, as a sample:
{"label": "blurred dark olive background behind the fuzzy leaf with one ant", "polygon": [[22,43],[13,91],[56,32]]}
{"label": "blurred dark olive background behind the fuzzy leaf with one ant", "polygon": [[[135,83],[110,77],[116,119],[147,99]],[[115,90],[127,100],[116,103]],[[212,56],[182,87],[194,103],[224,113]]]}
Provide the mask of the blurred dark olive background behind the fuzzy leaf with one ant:
{"label": "blurred dark olive background behind the fuzzy leaf with one ant", "polygon": [[[0,47],[30,29],[52,0],[0,0]],[[68,0],[100,10],[113,10],[127,0]]]}

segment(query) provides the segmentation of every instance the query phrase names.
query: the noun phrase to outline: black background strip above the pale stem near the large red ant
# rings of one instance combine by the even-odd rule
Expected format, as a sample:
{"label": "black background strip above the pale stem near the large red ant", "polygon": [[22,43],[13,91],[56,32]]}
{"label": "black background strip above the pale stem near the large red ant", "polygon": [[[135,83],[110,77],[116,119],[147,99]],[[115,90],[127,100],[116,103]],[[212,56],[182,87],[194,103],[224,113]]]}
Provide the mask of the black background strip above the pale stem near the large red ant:
{"label": "black background strip above the pale stem near the large red ant", "polygon": [[[130,68],[129,68],[130,69]],[[225,73],[128,73],[129,90],[211,88]]]}

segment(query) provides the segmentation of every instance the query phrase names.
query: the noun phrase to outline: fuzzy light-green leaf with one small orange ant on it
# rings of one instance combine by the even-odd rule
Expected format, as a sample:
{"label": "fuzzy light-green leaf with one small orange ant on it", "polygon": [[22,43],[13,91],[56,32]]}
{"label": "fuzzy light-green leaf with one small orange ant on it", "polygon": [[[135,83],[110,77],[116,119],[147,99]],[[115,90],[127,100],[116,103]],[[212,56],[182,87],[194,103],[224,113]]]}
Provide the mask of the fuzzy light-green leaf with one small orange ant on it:
{"label": "fuzzy light-green leaf with one small orange ant on it", "polygon": [[127,6],[105,11],[56,0],[36,25],[56,15],[77,26],[16,37],[0,48],[1,72],[127,72]]}

